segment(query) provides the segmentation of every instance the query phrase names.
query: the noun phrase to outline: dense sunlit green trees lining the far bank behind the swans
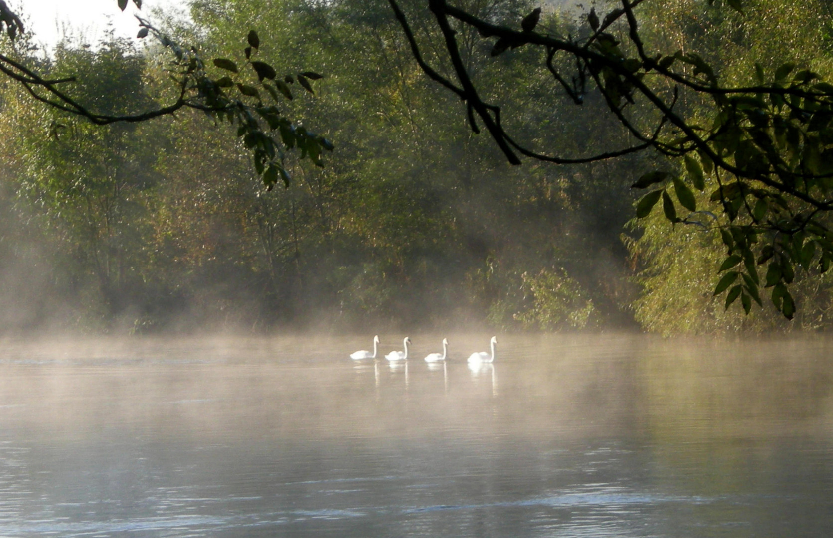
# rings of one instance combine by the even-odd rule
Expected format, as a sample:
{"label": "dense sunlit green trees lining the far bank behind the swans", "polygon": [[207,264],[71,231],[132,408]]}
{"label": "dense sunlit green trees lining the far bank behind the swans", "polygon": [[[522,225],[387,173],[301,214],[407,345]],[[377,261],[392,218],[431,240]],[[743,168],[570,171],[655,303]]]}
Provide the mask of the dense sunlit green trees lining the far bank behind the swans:
{"label": "dense sunlit green trees lining the far bank behind the swans", "polygon": [[[794,2],[772,20],[774,6],[759,4],[739,14],[675,2],[657,7],[643,31],[655,42],[708,52],[728,80],[751,77],[756,62],[776,70],[772,58],[785,51],[796,51],[796,62],[812,58],[802,67],[829,72],[826,7],[795,17]],[[532,7],[466,3],[507,25]],[[434,36],[428,13],[409,13],[417,14],[413,28]],[[0,299],[17,308],[7,326],[674,332],[826,325],[825,275],[796,276],[794,296],[806,306],[797,322],[775,309],[746,317],[740,304],[726,310],[712,294],[726,255],[719,232],[672,226],[658,210],[626,228],[640,196],[634,180],[679,163],[641,152],[511,167],[471,132],[460,100],[424,76],[387,2],[198,0],[192,18],[192,26],[166,34],[197,40],[204,57],[240,66],[247,62],[241,43],[256,29],[258,61],[281,76],[296,74],[283,82],[294,98],[279,102],[280,113],[324,134],[335,152],[323,167],[287,153],[282,166],[292,182],[267,190],[246,137],[230,143],[238,126],[216,114],[183,110],[100,127],[37,106],[7,85],[0,202],[9,217],[0,251],[12,287]],[[563,35],[588,32],[578,12],[546,10],[538,24]],[[763,38],[776,30],[777,39]],[[514,112],[507,117],[526,142],[577,154],[613,151],[629,139],[616,117],[599,112],[599,94],[569,113],[553,112],[568,97],[526,76],[542,52],[517,47],[491,57],[493,43],[471,27],[460,27],[457,39],[482,95]],[[27,52],[25,42],[4,46],[51,77],[74,75],[68,94],[113,116],[168,102],[167,81],[178,68],[159,44],[137,49],[115,38],[95,47],[64,42],[48,59]],[[299,72],[325,77],[310,92]],[[680,106],[696,116],[703,104]],[[654,112],[633,113],[650,119]],[[719,201],[697,196],[699,207],[712,204],[720,214]]]}

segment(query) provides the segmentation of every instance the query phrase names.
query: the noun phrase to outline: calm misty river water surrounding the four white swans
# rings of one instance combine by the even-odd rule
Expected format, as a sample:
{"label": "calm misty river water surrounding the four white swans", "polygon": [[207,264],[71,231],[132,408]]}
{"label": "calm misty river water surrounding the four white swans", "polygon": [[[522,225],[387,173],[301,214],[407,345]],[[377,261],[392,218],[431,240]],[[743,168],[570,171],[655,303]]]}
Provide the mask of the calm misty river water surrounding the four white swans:
{"label": "calm misty river water surrounding the four white swans", "polygon": [[831,339],[372,336],[0,341],[0,536],[833,536]]}

